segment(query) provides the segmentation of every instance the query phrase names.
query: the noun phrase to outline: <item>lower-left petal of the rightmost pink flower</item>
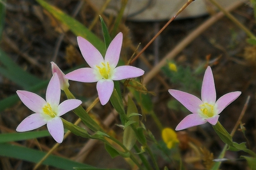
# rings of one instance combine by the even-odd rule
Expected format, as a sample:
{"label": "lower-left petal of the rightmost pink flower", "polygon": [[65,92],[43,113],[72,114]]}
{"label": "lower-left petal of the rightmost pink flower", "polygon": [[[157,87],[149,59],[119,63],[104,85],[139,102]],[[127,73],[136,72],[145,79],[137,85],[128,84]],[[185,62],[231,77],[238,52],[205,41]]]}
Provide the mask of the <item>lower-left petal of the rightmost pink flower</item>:
{"label": "lower-left petal of the rightmost pink flower", "polygon": [[202,119],[202,117],[200,117],[200,115],[198,114],[190,114],[187,115],[175,128],[175,130],[183,130],[186,128],[191,128],[193,126],[197,126],[200,124],[204,124],[207,121]]}

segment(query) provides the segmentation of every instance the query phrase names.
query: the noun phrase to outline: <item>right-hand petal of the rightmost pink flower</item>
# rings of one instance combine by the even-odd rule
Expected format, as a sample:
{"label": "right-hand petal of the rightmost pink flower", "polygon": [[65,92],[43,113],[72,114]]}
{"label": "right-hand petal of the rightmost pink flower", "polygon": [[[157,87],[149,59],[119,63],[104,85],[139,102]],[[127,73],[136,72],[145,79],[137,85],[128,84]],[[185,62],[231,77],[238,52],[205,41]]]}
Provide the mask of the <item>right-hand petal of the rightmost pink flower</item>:
{"label": "right-hand petal of the rightmost pink flower", "polygon": [[226,108],[226,106],[228,106],[230,103],[236,100],[237,97],[239,97],[239,95],[241,95],[241,91],[234,91],[226,93],[221,98],[219,98],[215,103],[215,106],[217,106],[217,114],[221,113],[224,110],[224,108]]}

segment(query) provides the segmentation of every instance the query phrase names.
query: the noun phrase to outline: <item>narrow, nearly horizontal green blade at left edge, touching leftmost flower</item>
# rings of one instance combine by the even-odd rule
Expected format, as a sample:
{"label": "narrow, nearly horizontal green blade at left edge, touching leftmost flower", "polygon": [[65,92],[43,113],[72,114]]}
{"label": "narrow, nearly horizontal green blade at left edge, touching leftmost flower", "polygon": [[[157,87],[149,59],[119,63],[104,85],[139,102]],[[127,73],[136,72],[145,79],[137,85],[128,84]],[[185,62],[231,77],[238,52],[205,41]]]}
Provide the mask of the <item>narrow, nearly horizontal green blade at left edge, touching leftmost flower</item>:
{"label": "narrow, nearly horizontal green blade at left edge, touching leftmost flower", "polygon": [[26,139],[34,139],[38,137],[50,136],[48,130],[37,131],[37,132],[20,132],[20,133],[1,133],[0,143],[11,142],[11,141],[22,141]]}

